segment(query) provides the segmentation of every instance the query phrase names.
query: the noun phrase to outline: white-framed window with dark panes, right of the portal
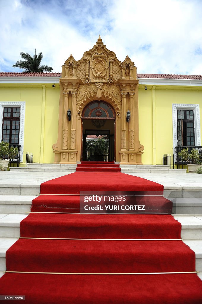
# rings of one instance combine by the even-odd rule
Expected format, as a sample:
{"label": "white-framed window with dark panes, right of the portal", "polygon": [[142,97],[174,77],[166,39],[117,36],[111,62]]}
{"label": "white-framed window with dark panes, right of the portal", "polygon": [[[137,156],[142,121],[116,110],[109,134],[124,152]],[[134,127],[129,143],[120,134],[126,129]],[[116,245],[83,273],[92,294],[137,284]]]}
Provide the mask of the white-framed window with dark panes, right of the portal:
{"label": "white-framed window with dark panes, right of the portal", "polygon": [[[190,122],[189,122],[190,120]],[[183,130],[184,127],[184,130]],[[200,146],[200,109],[198,104],[173,103],[173,153],[176,146]]]}

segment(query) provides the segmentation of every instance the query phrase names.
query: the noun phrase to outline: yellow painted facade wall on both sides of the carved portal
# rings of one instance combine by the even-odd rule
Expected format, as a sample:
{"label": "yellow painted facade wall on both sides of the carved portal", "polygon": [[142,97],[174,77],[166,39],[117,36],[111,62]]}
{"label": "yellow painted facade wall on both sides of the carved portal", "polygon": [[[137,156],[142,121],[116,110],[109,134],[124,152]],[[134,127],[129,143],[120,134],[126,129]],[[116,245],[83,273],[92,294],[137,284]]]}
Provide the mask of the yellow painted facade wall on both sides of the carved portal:
{"label": "yellow painted facade wall on both sides of the carved portal", "polygon": [[[147,88],[147,90],[139,88],[138,92],[139,141],[145,147],[142,163],[162,164],[163,154],[173,154],[172,104],[199,104],[201,120],[202,90],[156,86],[155,94],[152,95],[152,86],[147,86]],[[26,151],[33,152],[35,163],[53,163],[54,161],[52,145],[56,142],[58,133],[59,95],[59,85],[55,88],[52,88],[52,85],[42,84],[1,85],[0,87],[1,102],[26,102],[23,150],[25,153]],[[152,102],[153,105],[155,104],[154,112]],[[153,140],[153,118],[155,119],[156,143]],[[202,122],[200,126],[202,134]],[[25,162],[25,157],[23,161]]]}

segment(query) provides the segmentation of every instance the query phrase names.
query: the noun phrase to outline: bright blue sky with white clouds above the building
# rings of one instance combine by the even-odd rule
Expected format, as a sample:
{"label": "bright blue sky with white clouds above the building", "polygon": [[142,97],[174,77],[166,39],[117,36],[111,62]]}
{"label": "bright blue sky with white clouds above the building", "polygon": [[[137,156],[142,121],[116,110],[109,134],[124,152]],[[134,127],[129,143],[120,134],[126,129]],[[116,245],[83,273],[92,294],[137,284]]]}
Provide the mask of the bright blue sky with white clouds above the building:
{"label": "bright blue sky with white clouds above the building", "polygon": [[0,0],[0,71],[42,52],[60,72],[79,60],[99,34],[138,73],[202,75],[202,0]]}

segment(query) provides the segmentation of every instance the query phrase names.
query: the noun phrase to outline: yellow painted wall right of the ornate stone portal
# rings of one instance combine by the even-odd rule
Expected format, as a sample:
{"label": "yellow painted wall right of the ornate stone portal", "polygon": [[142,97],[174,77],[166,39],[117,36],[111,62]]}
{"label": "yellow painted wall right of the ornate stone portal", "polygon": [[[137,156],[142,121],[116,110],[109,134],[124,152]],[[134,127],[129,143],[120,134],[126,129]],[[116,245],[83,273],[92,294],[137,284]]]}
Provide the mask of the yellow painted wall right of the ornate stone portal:
{"label": "yellow painted wall right of the ornate stone portal", "polygon": [[[147,86],[148,87],[148,86]],[[202,134],[202,90],[187,87],[155,88],[156,164],[162,164],[163,154],[173,155],[172,104],[199,104]],[[139,140],[145,147],[143,164],[153,164],[152,87],[139,89]]]}

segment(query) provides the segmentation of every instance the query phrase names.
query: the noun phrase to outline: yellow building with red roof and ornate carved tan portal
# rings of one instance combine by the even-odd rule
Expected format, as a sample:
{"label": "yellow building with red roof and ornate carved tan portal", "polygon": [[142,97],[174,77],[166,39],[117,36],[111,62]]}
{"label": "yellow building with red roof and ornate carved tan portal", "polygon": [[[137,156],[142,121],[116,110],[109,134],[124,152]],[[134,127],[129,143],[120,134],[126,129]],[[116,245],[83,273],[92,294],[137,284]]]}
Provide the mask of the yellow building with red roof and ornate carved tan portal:
{"label": "yellow building with red roof and ornate carved tan portal", "polygon": [[109,161],[162,164],[175,147],[201,146],[201,111],[202,76],[137,74],[100,37],[61,73],[0,73],[2,140],[34,163],[76,164],[88,136],[104,135]]}

